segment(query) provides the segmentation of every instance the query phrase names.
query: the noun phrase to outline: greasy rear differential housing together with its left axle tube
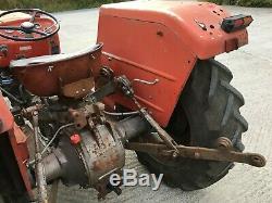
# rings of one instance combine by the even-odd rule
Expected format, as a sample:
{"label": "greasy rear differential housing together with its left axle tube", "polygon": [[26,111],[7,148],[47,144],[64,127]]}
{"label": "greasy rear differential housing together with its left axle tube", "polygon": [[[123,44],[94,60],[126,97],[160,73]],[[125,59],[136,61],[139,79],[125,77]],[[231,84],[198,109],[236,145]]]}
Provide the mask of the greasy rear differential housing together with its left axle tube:
{"label": "greasy rear differential housing together with its left axle tube", "polygon": [[79,136],[77,144],[71,144],[64,136],[60,147],[44,157],[47,180],[61,178],[64,185],[84,188],[100,186],[98,191],[103,194],[100,189],[106,189],[109,176],[124,166],[123,144],[104,125],[94,131],[82,129]]}

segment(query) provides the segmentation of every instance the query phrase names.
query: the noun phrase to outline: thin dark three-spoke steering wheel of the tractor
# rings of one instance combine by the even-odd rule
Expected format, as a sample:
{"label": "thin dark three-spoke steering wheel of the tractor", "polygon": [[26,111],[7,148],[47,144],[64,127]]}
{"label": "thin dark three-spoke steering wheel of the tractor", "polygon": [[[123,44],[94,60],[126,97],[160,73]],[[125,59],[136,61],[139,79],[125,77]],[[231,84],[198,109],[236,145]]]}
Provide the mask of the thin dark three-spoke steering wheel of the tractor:
{"label": "thin dark three-spoke steering wheel of the tractor", "polygon": [[[38,41],[38,40],[47,39],[60,30],[60,24],[58,20],[53,15],[45,11],[41,11],[39,9],[10,10],[0,14],[0,21],[1,21],[1,17],[9,15],[11,13],[17,13],[17,12],[30,14],[30,18],[29,20],[26,18],[17,26],[0,26],[1,37],[11,39],[14,41]],[[51,20],[50,21],[51,24],[48,25],[47,27],[41,27],[39,24],[35,23],[35,20],[37,18],[37,16],[40,17],[41,15],[45,15],[46,16],[45,18],[47,20]],[[24,37],[14,36],[12,35],[12,33],[15,30],[24,33],[26,35]],[[32,34],[36,34],[36,35],[32,35]]]}

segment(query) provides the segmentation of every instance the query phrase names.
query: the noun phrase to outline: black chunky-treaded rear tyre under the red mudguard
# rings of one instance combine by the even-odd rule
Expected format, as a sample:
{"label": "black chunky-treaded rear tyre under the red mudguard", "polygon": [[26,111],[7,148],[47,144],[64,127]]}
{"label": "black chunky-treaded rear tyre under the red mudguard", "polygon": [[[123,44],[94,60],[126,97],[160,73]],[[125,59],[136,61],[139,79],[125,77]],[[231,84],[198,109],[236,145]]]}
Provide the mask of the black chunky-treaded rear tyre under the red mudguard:
{"label": "black chunky-treaded rear tyre under the red mudguard", "polygon": [[[244,150],[242,134],[248,124],[239,112],[244,98],[230,85],[232,78],[231,71],[213,59],[197,62],[165,128],[178,144],[217,148],[217,139],[227,137],[234,150]],[[234,166],[228,162],[165,160],[141,152],[137,156],[149,172],[163,174],[166,185],[185,191],[211,186]]]}

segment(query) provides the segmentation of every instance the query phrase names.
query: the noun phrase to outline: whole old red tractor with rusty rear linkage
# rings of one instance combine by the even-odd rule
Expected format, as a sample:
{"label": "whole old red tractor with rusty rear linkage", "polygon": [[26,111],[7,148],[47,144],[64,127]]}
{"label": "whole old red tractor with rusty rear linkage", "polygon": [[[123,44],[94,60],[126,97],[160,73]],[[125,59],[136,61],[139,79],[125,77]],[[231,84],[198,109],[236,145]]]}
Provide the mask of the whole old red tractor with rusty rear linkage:
{"label": "whole old red tractor with rusty rear linkage", "polygon": [[97,45],[60,54],[51,14],[1,13],[3,201],[52,202],[47,186],[58,180],[120,194],[109,178],[122,175],[125,150],[186,191],[219,181],[234,162],[263,167],[262,155],[243,153],[244,98],[214,60],[248,43],[251,22],[208,2],[109,4]]}

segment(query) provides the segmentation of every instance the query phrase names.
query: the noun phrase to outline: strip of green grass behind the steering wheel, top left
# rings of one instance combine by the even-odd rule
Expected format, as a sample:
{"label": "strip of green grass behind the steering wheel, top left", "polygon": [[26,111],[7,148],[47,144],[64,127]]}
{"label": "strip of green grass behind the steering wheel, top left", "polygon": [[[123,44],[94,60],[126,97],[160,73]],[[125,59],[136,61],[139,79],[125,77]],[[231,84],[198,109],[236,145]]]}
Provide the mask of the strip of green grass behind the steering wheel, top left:
{"label": "strip of green grass behind the steering wheel, top left", "polygon": [[100,7],[122,0],[1,0],[0,10],[38,8],[48,12]]}

